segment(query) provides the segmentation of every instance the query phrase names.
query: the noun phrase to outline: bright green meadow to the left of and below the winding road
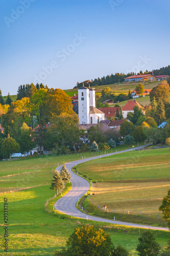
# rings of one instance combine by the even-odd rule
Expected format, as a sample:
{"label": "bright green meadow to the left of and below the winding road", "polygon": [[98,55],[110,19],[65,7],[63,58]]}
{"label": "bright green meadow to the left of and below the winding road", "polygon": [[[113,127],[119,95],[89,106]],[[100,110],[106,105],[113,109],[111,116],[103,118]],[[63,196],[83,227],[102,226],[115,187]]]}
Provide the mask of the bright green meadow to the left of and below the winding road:
{"label": "bright green meadow to the left of and below the winding road", "polygon": [[[86,153],[86,157],[89,153]],[[83,155],[84,157],[84,155]],[[1,176],[1,244],[0,255],[4,255],[3,209],[4,198],[8,199],[9,212],[9,255],[54,255],[54,251],[65,246],[66,240],[74,229],[83,224],[94,224],[111,234],[113,243],[122,244],[135,253],[138,228],[106,225],[63,216],[53,211],[56,198],[50,200],[45,210],[45,202],[55,195],[49,189],[53,171],[58,163],[81,159],[82,155],[61,157],[36,157],[26,160],[13,160],[0,163]],[[18,174],[19,173],[19,174]],[[16,175],[17,174],[17,175]],[[13,175],[9,176],[8,175]],[[2,178],[6,176],[5,178]],[[69,185],[68,185],[69,186]],[[21,189],[21,190],[20,190]],[[68,189],[68,188],[66,188]],[[140,230],[140,233],[142,229]],[[169,238],[168,232],[154,231],[158,242],[163,246]]]}

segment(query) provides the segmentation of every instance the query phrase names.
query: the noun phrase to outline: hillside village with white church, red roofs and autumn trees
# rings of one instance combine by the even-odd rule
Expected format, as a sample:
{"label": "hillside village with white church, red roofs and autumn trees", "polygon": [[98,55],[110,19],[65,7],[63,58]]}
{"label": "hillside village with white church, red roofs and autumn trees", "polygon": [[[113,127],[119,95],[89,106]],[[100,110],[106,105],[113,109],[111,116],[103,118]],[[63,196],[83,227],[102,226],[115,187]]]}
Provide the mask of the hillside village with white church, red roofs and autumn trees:
{"label": "hillside village with white church, red roofs and autumn trees", "polygon": [[[142,141],[168,144],[168,79],[167,75],[129,76],[129,82],[135,80],[139,83],[136,83],[133,91],[129,89],[128,94],[119,94],[128,98],[123,107],[119,104],[124,102],[124,98],[115,101],[119,95],[115,96],[109,86],[103,88],[101,97],[96,100],[95,88],[91,88],[90,83],[85,87],[84,82],[78,88],[78,95],[71,97],[60,89],[49,89],[43,84],[20,86],[17,100],[12,102],[8,95],[6,104],[1,93],[1,158],[11,158],[11,154],[13,157],[21,154],[49,154],[52,151],[63,154],[79,151],[84,146],[90,150],[93,141],[99,144],[100,150],[107,143],[109,147],[110,140],[117,145]],[[159,80],[158,86],[145,89],[142,82],[150,80]],[[150,98],[151,103],[139,104],[137,100],[141,97]],[[18,126],[19,129],[16,129]],[[96,137],[92,130],[99,131],[99,136]],[[54,135],[55,131],[58,131],[57,136]],[[73,131],[74,136],[68,138],[68,134]],[[159,134],[156,138],[155,133]],[[24,138],[28,139],[27,146],[23,145]],[[9,139],[14,139],[17,145],[11,152],[4,148]]]}

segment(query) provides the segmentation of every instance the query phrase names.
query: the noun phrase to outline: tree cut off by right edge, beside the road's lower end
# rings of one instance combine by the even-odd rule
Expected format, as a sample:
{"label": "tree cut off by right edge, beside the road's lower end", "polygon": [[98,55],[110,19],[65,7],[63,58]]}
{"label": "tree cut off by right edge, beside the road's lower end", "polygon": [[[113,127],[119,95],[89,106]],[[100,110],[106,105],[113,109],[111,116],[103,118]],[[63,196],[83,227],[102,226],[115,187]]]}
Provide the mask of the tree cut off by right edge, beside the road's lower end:
{"label": "tree cut off by right edge, beside the road's lower end", "polygon": [[167,192],[167,196],[163,198],[162,204],[159,210],[163,212],[163,219],[167,221],[167,225],[170,228],[170,189]]}

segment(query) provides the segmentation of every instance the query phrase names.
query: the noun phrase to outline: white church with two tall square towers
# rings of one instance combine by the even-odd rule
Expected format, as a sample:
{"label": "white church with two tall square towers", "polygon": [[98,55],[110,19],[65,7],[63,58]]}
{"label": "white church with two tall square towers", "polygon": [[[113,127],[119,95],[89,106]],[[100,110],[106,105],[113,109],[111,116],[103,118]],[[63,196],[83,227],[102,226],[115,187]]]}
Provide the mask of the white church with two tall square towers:
{"label": "white church with two tall square towers", "polygon": [[99,123],[105,120],[105,114],[95,108],[95,91],[93,89],[83,86],[78,89],[79,98],[79,123]]}

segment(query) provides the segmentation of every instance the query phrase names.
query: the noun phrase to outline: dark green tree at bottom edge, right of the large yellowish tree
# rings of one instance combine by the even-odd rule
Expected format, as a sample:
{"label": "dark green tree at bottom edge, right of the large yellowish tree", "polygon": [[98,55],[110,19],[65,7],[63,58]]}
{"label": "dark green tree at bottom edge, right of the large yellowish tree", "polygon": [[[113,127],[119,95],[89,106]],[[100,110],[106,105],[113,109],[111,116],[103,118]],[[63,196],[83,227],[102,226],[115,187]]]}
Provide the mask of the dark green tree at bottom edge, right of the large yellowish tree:
{"label": "dark green tree at bottom edge, right of the large yellowish tree", "polygon": [[160,245],[156,242],[154,233],[149,229],[144,231],[138,238],[139,244],[136,247],[139,256],[156,256],[159,253]]}

